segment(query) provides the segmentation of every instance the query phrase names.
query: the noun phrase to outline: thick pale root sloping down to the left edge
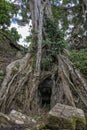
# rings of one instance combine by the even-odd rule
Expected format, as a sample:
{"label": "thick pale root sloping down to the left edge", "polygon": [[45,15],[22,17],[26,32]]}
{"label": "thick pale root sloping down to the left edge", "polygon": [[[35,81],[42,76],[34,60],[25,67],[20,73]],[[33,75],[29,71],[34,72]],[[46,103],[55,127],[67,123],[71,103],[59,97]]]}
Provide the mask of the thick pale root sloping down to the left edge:
{"label": "thick pale root sloping down to the left edge", "polygon": [[5,112],[10,107],[13,99],[20,92],[31,73],[29,62],[30,55],[27,54],[23,59],[12,62],[7,66],[6,76],[0,90],[0,109]]}

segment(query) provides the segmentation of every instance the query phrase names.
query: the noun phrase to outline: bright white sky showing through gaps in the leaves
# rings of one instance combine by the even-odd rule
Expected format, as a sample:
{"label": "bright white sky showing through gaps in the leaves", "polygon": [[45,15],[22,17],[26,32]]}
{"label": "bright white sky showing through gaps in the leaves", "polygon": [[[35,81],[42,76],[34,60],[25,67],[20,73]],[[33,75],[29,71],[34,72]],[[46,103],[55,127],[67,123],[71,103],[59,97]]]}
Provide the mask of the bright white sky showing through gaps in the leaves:
{"label": "bright white sky showing through gaps in the leaves", "polygon": [[[10,2],[14,2],[14,1],[15,1],[15,4],[18,4],[18,5],[20,5],[20,3],[21,3],[21,2],[20,2],[21,0],[7,0],[7,1],[10,1]],[[62,4],[62,1],[63,1],[63,0],[60,0],[60,4]],[[77,0],[77,1],[78,1],[78,0]],[[20,6],[21,6],[21,5],[20,5]],[[72,5],[72,6],[74,6],[74,5]],[[17,16],[14,16],[14,17],[17,18],[17,19],[21,19],[21,16],[20,16],[19,14],[17,14]],[[69,20],[72,19],[72,15],[69,15],[69,16],[68,16],[68,19],[69,19]],[[24,26],[18,25],[15,20],[12,20],[12,21],[11,21],[10,29],[11,29],[12,27],[15,27],[15,28],[17,29],[18,33],[21,34],[21,36],[22,36],[22,38],[20,38],[18,44],[21,44],[21,45],[23,45],[23,46],[25,46],[25,47],[29,46],[29,43],[25,42],[24,39],[26,38],[26,36],[29,36],[29,34],[30,34],[30,32],[29,32],[29,31],[30,31],[30,25],[32,25],[31,21],[30,21],[29,24],[26,24],[26,25],[24,25]],[[61,26],[62,26],[62,25],[61,25],[61,22],[60,22],[60,23],[59,23],[59,28],[60,28],[60,29],[61,29]],[[70,28],[70,29],[67,30],[68,32],[70,32],[70,31],[72,30],[73,25],[70,25],[69,28]]]}

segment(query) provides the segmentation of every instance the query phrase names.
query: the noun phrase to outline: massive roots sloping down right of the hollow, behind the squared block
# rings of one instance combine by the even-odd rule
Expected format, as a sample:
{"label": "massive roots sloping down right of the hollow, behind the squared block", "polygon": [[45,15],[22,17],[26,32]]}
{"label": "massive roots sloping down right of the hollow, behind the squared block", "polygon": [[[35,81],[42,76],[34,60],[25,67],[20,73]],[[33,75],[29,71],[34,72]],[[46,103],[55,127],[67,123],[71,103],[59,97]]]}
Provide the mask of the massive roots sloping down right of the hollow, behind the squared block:
{"label": "massive roots sloping down right of the hollow, behind the squared block", "polygon": [[59,55],[58,61],[58,77],[62,80],[62,88],[68,103],[73,106],[78,106],[82,102],[87,107],[86,81],[67,57]]}

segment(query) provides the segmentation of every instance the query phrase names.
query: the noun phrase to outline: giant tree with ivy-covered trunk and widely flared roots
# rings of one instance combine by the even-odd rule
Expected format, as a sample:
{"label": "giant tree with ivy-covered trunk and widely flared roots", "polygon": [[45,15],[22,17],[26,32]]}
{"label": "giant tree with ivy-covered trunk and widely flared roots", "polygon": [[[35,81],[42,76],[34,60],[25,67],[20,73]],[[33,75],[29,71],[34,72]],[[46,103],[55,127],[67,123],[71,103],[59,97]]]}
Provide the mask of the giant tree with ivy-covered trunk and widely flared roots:
{"label": "giant tree with ivy-covered trunk and widely flared roots", "polygon": [[7,66],[0,90],[0,110],[51,109],[57,102],[87,108],[87,84],[68,59],[63,33],[49,0],[30,0],[32,43],[23,59]]}

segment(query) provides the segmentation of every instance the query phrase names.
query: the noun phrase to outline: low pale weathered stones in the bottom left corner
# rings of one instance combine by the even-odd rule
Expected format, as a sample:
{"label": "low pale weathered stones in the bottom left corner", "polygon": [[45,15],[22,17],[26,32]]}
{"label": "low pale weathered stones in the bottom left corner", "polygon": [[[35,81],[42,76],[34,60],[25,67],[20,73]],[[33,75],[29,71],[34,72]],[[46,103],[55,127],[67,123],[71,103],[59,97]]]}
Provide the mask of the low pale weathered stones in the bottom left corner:
{"label": "low pale weathered stones in the bottom left corner", "polygon": [[9,115],[0,113],[0,130],[33,130],[36,125],[35,119],[16,110],[12,110]]}

